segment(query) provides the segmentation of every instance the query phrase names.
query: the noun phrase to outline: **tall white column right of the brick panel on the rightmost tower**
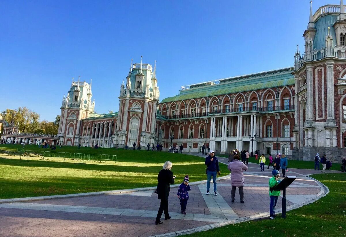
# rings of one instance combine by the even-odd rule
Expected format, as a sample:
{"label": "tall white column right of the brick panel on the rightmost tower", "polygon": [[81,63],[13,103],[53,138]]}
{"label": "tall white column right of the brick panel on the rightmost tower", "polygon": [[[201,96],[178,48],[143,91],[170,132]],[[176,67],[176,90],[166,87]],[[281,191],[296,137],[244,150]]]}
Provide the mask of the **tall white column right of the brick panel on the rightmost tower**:
{"label": "tall white column right of the brick panel on the rightmost tower", "polygon": [[327,119],[335,120],[334,111],[334,63],[327,63]]}

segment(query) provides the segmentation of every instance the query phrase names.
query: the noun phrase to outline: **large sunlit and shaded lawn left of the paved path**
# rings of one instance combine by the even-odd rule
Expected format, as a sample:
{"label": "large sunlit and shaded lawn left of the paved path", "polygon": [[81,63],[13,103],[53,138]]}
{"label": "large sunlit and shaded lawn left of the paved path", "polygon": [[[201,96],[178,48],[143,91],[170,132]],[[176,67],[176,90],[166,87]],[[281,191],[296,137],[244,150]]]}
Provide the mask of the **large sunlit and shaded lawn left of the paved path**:
{"label": "large sunlit and shaded lawn left of the paved path", "polygon": [[[0,150],[17,147],[19,146],[0,145]],[[27,145],[25,148],[38,150],[34,145]],[[57,151],[117,155],[117,163],[90,161],[87,164],[80,164],[79,160],[62,162],[62,158],[45,158],[44,161],[42,158],[26,157],[22,160],[0,159],[0,198],[155,186],[157,174],[167,160],[173,163],[172,171],[177,176],[176,183],[182,182],[186,174],[189,174],[191,182],[206,179],[204,160],[192,155],[112,148],[95,150],[86,147],[81,147],[80,150],[78,147],[63,147]],[[227,170],[226,165],[220,164],[220,166],[221,170]]]}

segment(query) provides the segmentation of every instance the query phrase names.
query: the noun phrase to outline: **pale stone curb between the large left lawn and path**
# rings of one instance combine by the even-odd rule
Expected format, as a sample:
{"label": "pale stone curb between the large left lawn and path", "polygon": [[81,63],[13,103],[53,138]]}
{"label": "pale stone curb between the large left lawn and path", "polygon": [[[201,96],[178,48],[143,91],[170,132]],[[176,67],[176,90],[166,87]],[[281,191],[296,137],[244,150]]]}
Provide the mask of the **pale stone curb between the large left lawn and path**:
{"label": "pale stone curb between the large left lawn and path", "polygon": [[[228,174],[228,175],[225,175],[222,177],[218,177],[217,180],[224,180],[224,179],[228,179],[230,177],[231,177],[231,175]],[[199,185],[199,184],[206,184],[206,183],[207,183],[207,180],[202,180],[202,181],[191,182],[190,185]],[[179,187],[179,186],[180,186],[180,184],[171,185],[172,188]],[[149,190],[155,190],[155,189],[156,189],[156,186],[145,187],[145,188],[131,188],[131,189],[100,191],[100,192],[91,192],[91,193],[75,193],[75,194],[63,194],[63,195],[53,195],[53,196],[7,198],[7,199],[0,199],[0,203],[30,202],[30,201],[50,200],[50,199],[58,199],[58,198],[86,197],[86,196],[97,196],[97,195],[107,195],[107,194],[132,193],[132,192],[149,191]]]}

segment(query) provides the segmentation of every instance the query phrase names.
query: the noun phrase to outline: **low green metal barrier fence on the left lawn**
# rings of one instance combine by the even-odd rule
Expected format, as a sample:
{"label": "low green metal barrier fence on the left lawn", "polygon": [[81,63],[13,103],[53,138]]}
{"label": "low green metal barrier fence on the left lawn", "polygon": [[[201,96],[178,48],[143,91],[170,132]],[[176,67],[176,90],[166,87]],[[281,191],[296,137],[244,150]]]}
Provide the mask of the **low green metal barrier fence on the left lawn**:
{"label": "low green metal barrier fence on the left lawn", "polygon": [[73,152],[51,152],[51,151],[32,151],[32,150],[24,150],[19,148],[18,151],[24,154],[34,154],[40,155],[44,157],[54,157],[54,158],[70,158],[70,159],[82,159],[83,162],[85,160],[88,161],[115,161],[117,163],[116,155],[104,155],[104,154],[84,154],[84,153],[73,153]]}

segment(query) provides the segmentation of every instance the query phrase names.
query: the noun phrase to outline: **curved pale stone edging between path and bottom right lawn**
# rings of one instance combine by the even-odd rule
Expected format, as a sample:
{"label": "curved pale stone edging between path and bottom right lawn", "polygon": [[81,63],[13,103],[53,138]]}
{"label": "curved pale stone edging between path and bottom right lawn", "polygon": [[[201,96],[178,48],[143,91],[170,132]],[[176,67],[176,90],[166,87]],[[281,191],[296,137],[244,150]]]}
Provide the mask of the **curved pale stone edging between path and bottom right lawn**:
{"label": "curved pale stone edging between path and bottom right lawn", "polygon": [[[315,202],[316,200],[320,199],[321,197],[326,196],[329,193],[329,188],[327,186],[325,186],[324,184],[322,184],[320,181],[318,181],[315,178],[312,178],[310,176],[308,176],[308,177],[317,182],[317,184],[321,187],[321,191],[315,197],[309,198],[303,203],[293,204],[293,205],[287,206],[286,211],[290,211],[290,210],[297,209],[299,207],[311,204],[311,203]],[[275,209],[275,213],[281,213],[281,209]],[[219,223],[215,223],[215,224],[211,224],[211,225],[205,225],[205,226],[200,226],[200,227],[196,227],[196,228],[192,228],[192,229],[185,229],[185,230],[165,233],[165,234],[161,234],[161,235],[153,235],[153,236],[149,236],[149,237],[171,237],[171,236],[188,235],[188,234],[193,234],[193,233],[200,232],[200,231],[210,230],[210,229],[214,229],[217,227],[222,227],[222,226],[226,226],[226,225],[230,225],[230,224],[241,223],[241,222],[248,221],[248,220],[262,219],[262,218],[268,217],[268,216],[269,216],[269,212],[265,212],[265,213],[261,213],[261,214],[257,214],[257,215],[253,215],[253,216],[236,218],[234,220],[229,220],[229,221],[225,221],[225,222],[219,222]]]}

